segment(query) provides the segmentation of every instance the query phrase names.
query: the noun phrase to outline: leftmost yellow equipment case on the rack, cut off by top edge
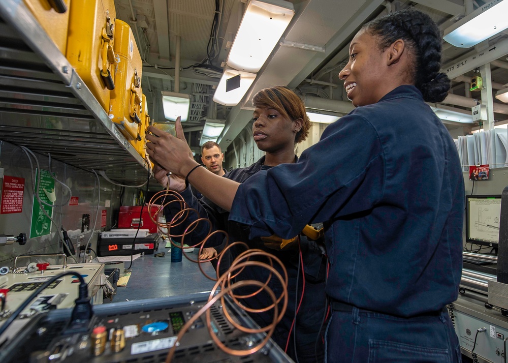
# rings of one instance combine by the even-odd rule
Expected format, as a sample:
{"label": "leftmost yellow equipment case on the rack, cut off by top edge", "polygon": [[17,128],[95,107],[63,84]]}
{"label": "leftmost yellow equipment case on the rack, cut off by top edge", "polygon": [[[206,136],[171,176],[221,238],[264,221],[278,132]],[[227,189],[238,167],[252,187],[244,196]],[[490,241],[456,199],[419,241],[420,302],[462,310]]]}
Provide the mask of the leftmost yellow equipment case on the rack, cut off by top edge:
{"label": "leftmost yellow equipment case on the rack, cut off by top edge", "polygon": [[23,0],[62,54],[67,50],[70,0]]}

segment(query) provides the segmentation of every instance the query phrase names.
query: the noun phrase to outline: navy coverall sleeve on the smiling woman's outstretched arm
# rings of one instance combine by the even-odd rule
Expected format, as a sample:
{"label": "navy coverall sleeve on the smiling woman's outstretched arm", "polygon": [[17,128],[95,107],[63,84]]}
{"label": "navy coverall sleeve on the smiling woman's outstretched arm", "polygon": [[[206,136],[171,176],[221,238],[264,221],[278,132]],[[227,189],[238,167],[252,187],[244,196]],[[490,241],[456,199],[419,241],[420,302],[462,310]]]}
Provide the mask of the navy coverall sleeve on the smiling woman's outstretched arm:
{"label": "navy coverall sleeve on the smiling woman's outstretched arm", "polygon": [[306,224],[372,208],[382,195],[384,165],[375,128],[353,111],[328,126],[297,163],[263,170],[240,185],[229,219],[250,226],[249,238],[291,238]]}

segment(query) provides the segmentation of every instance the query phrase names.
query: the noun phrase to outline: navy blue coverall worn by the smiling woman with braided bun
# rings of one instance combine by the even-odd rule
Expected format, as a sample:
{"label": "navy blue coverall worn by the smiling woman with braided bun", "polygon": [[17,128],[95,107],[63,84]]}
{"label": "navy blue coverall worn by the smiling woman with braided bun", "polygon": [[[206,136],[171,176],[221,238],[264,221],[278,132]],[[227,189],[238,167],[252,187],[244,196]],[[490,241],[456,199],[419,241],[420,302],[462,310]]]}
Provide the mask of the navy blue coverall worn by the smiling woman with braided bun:
{"label": "navy blue coverall worn by the smiling woman with braided bun", "polygon": [[458,295],[463,211],[453,139],[403,85],[329,125],[297,163],[246,180],[229,218],[250,238],[325,224],[328,362],[449,362],[460,359],[444,307]]}

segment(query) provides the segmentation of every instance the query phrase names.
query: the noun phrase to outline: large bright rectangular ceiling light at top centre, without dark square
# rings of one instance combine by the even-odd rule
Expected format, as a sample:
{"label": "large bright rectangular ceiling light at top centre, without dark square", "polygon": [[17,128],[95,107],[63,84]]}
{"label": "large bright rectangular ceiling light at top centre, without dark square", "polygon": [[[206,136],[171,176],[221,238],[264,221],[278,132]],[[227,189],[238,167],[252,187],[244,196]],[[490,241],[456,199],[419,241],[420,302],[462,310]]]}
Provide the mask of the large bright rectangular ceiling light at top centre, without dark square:
{"label": "large bright rectangular ceiling light at top centre, without dark square", "polygon": [[293,4],[282,0],[251,0],[236,33],[226,63],[256,73],[295,15]]}

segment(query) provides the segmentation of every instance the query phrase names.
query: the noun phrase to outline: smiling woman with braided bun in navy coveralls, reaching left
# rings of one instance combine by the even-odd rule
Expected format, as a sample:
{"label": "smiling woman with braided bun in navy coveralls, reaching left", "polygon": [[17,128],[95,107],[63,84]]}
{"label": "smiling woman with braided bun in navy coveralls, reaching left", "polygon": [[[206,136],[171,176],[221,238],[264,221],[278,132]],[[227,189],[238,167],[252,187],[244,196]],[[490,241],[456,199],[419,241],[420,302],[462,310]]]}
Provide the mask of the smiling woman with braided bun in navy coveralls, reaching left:
{"label": "smiling woman with braided bun in navy coveralls, reaching left", "polygon": [[364,25],[339,74],[357,108],[297,163],[242,185],[205,170],[187,175],[196,162],[180,131],[178,139],[149,129],[161,136],[147,136],[150,157],[210,199],[220,196],[214,202],[250,237],[325,223],[327,362],[460,361],[445,307],[460,283],[464,182],[455,144],[425,103],[450,88],[440,57],[438,28],[421,12]]}

